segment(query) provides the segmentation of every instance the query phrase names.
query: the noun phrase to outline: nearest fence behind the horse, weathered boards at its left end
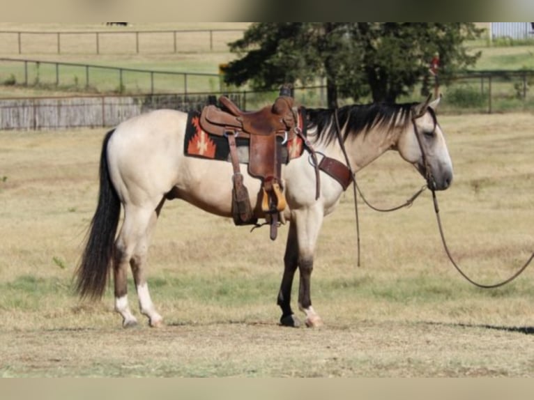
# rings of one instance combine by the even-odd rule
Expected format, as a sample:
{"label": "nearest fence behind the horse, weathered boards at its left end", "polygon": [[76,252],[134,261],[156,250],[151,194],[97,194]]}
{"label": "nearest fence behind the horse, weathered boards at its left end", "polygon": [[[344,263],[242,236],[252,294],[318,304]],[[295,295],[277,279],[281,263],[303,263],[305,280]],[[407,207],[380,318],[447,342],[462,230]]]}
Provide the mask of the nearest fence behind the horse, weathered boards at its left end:
{"label": "nearest fence behind the horse, weathered boards at its left end", "polygon": [[[444,86],[439,112],[443,114],[525,111],[534,107],[530,91],[534,71],[480,72],[465,74]],[[399,102],[421,101],[420,85]],[[0,130],[56,130],[108,128],[153,109],[199,111],[214,104],[220,95],[229,96],[243,110],[272,104],[277,91],[206,91],[140,95],[77,95],[55,98],[0,99]],[[296,105],[326,107],[326,87],[294,89]],[[340,106],[351,104],[341,99]]]}

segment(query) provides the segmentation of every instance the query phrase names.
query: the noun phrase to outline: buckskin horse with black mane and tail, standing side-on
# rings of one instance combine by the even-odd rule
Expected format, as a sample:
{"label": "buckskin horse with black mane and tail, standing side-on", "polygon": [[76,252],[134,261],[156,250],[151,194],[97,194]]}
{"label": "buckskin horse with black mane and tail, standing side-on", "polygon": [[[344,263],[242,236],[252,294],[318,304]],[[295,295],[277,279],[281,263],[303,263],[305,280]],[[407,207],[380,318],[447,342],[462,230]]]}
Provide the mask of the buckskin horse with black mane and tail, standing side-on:
{"label": "buckskin horse with black mane and tail, standing side-on", "polygon": [[[452,183],[453,172],[436,118],[439,100],[304,109],[307,142],[316,157],[328,157],[348,167],[349,178],[386,151],[397,151],[427,178],[433,190],[445,190]],[[188,114],[182,111],[149,111],[123,121],[107,132],[102,142],[98,204],[75,272],[75,287],[81,298],[98,300],[112,274],[114,309],[122,316],[125,328],[137,325],[128,305],[128,266],[141,314],[151,327],[163,323],[148,291],[145,268],[151,233],[165,201],[181,199],[208,213],[232,215],[232,165],[184,155],[187,120]],[[283,326],[302,325],[291,308],[297,268],[298,309],[305,316],[305,325],[323,324],[312,307],[310,292],[314,248],[323,218],[333,213],[346,188],[329,174],[316,171],[310,148],[282,166],[287,200],[282,217],[289,222],[284,272],[277,295]],[[243,171],[243,182],[249,188],[252,205],[257,205],[259,179]],[[121,207],[123,222],[117,235]]]}

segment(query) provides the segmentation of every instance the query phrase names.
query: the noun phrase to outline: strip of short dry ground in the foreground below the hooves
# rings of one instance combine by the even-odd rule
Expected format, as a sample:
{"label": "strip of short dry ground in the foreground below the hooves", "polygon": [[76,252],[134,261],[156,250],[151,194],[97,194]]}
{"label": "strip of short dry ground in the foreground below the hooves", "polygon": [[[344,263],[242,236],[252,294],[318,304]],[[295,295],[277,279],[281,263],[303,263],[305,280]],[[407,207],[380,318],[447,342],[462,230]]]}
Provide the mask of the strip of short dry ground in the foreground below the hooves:
{"label": "strip of short dry ground in the foreground below the hooves", "polygon": [[531,376],[534,337],[432,322],[1,332],[6,376]]}

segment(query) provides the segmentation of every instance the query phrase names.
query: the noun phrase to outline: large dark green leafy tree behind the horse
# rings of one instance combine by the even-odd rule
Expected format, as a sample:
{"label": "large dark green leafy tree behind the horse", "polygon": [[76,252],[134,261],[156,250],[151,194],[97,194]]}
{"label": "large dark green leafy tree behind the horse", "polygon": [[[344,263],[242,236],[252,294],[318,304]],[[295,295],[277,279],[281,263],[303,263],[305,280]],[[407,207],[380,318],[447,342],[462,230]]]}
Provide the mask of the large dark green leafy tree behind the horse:
{"label": "large dark green leafy tree behind the horse", "polygon": [[254,89],[326,79],[328,107],[337,96],[394,102],[428,79],[438,53],[440,79],[474,65],[464,41],[480,35],[471,22],[260,22],[230,43],[241,58],[225,68],[225,81]]}

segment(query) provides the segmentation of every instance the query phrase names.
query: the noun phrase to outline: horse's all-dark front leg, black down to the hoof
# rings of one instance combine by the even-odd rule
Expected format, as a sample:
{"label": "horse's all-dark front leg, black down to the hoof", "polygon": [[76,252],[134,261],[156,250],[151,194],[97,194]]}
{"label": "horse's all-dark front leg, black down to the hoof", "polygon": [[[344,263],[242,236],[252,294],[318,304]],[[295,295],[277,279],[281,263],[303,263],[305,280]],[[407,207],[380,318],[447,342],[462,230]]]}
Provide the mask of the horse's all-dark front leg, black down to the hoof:
{"label": "horse's all-dark front leg, black down to the hoof", "polygon": [[284,276],[280,291],[278,292],[277,304],[282,309],[280,324],[298,328],[300,321],[293,314],[291,309],[291,287],[293,286],[293,277],[298,267],[298,242],[297,230],[294,222],[289,223],[289,233],[287,235],[286,253],[284,254]]}

